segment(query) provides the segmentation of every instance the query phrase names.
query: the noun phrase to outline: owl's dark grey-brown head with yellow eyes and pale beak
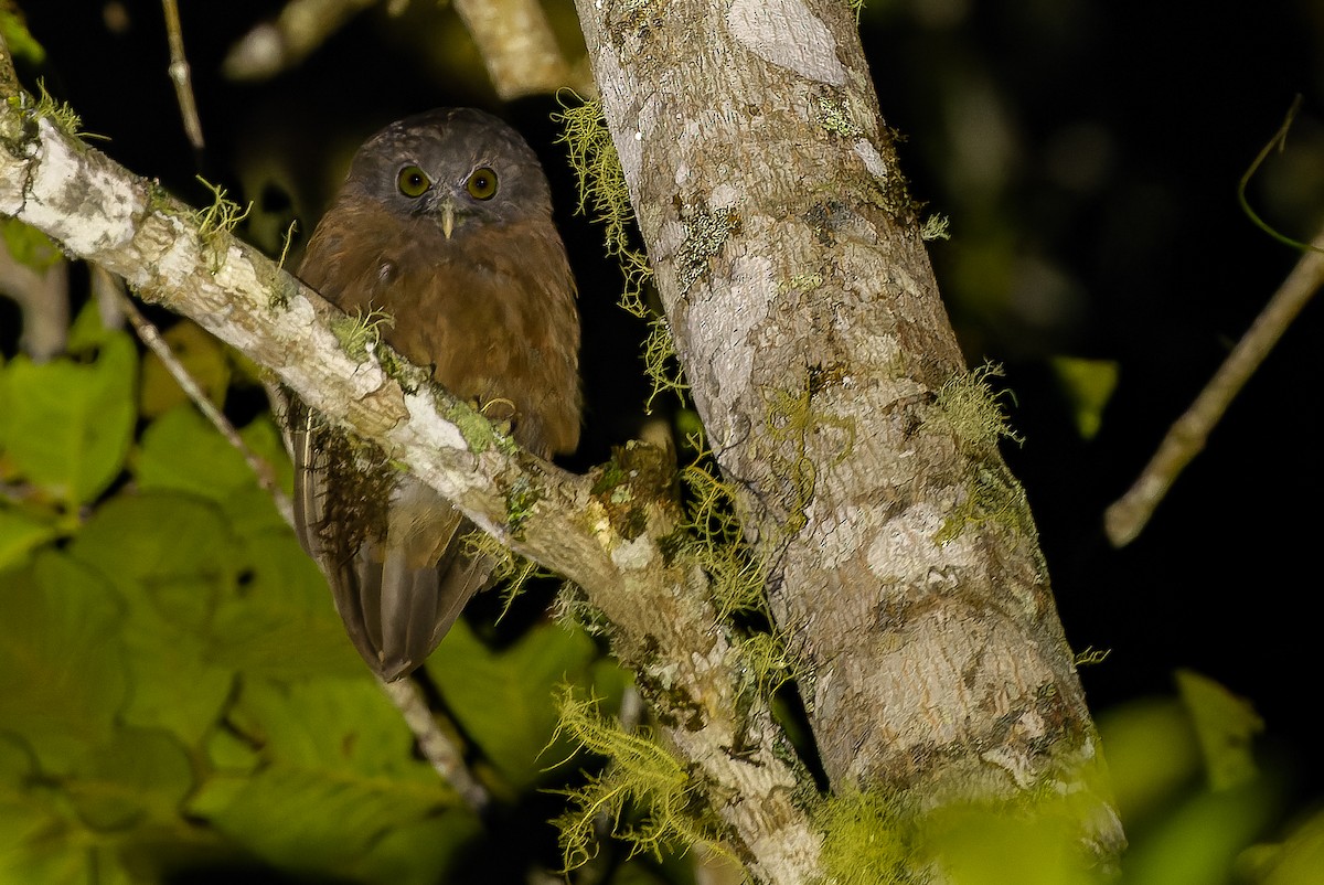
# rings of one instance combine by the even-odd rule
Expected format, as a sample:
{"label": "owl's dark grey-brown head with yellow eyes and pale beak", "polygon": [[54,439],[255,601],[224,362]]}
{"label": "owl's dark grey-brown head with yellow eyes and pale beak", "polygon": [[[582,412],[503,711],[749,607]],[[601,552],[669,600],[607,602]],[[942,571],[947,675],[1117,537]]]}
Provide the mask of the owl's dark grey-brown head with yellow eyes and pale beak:
{"label": "owl's dark grey-brown head with yellow eyes and pale beak", "polygon": [[355,154],[342,196],[432,217],[448,238],[552,213],[532,148],[471,107],[438,107],[387,126]]}

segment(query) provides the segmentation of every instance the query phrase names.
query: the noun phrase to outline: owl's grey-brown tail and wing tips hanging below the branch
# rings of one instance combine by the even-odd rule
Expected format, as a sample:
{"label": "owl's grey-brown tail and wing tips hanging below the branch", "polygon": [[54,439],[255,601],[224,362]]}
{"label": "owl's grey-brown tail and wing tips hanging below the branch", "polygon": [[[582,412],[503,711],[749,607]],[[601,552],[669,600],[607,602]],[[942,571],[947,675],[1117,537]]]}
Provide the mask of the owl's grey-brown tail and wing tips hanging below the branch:
{"label": "owl's grey-brown tail and wing tips hanging below the branch", "polygon": [[291,409],[290,419],[299,542],[322,567],[368,666],[387,681],[406,676],[489,584],[493,563],[461,550],[473,523],[412,476],[399,480],[384,506],[344,513],[334,495],[363,488],[355,465],[319,445],[327,431],[314,428],[310,409]]}

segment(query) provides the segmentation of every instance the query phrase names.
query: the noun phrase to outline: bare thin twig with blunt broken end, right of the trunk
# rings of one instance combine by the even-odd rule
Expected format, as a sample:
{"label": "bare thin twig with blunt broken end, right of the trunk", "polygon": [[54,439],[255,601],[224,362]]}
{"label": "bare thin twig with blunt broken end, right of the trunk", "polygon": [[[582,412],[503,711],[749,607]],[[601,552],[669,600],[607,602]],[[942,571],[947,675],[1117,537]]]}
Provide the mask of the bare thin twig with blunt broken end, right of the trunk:
{"label": "bare thin twig with blunt broken end, right of the trunk", "polygon": [[1233,397],[1241,391],[1283,331],[1311,297],[1324,285],[1324,231],[1315,237],[1274,297],[1255,318],[1246,335],[1192,403],[1186,413],[1168,431],[1153,458],[1145,465],[1135,485],[1107,509],[1104,531],[1113,547],[1136,539],[1153,515],[1155,507],[1168,494],[1177,476],[1205,448],[1210,431],[1222,419]]}

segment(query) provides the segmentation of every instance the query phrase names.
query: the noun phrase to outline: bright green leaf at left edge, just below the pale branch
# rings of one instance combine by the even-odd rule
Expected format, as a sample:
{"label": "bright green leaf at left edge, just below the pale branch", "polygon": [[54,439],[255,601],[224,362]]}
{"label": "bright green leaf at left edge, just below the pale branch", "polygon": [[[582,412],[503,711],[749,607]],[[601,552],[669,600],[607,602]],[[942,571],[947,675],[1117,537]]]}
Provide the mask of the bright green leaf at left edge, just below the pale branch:
{"label": "bright green leaf at left edge, just below the pale branch", "polygon": [[94,501],[119,476],[132,441],[136,363],[123,333],[90,364],[15,358],[0,371],[0,449],[12,468],[70,507]]}

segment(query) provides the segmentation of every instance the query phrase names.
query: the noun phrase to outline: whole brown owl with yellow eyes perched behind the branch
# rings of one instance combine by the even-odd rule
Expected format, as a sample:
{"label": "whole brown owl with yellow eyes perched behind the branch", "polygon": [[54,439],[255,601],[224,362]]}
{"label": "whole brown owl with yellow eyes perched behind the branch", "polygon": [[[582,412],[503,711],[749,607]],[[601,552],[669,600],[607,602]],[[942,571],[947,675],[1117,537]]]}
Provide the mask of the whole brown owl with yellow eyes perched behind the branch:
{"label": "whole brown owl with yellow eyes perched behind the branch", "polygon": [[[440,109],[381,130],[308,241],[306,284],[442,387],[511,421],[535,454],[579,443],[579,314],[538,158],[494,117]],[[432,653],[490,563],[473,526],[380,453],[291,408],[295,523],[355,647],[400,678]]]}

